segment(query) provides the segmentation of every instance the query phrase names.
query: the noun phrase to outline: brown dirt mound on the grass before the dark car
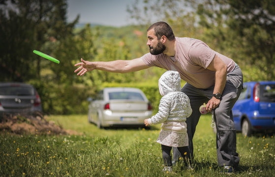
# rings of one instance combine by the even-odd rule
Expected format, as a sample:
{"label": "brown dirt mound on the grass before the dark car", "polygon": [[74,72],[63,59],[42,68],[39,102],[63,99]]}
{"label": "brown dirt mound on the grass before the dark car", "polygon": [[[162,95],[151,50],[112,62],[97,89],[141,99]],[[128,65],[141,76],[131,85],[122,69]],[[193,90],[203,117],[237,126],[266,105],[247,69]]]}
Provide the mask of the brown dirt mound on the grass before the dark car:
{"label": "brown dirt mound on the grass before the dark car", "polygon": [[54,121],[47,121],[40,113],[2,115],[0,117],[0,132],[12,134],[40,135],[76,135],[73,130],[65,130]]}

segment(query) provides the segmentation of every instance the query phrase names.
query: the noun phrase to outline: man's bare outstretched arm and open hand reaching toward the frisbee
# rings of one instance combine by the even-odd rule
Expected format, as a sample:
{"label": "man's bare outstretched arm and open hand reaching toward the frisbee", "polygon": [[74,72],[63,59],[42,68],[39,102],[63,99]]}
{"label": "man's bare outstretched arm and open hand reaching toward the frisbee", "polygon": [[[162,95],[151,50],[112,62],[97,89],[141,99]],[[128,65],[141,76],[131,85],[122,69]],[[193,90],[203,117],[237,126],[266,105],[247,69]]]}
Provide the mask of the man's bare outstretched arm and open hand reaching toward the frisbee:
{"label": "man's bare outstretched arm and open hand reaching toward the frisbee", "polygon": [[127,73],[149,68],[141,58],[113,61],[85,61],[81,59],[81,62],[76,63],[75,66],[80,66],[74,71],[75,73],[78,72],[78,76],[82,76],[86,72],[94,69],[115,73]]}

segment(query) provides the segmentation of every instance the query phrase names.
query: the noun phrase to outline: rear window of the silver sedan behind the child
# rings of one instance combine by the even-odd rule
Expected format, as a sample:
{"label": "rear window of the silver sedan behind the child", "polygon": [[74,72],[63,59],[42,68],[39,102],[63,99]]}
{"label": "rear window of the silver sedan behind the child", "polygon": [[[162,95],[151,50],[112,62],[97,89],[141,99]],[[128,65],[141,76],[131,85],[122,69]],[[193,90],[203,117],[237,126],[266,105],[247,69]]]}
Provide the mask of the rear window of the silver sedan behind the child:
{"label": "rear window of the silver sedan behind the child", "polygon": [[118,91],[118,92],[110,92],[109,99],[129,99],[129,100],[144,100],[143,96],[138,92],[130,92],[130,91]]}

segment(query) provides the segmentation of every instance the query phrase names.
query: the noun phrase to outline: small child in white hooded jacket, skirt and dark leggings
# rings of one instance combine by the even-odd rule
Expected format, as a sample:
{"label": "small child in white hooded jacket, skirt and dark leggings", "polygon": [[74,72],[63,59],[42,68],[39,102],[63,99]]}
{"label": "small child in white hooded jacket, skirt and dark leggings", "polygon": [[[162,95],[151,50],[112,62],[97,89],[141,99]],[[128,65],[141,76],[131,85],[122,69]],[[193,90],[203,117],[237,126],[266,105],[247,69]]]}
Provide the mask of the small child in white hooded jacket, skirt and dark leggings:
{"label": "small child in white hooded jacket, skirt and dark leggings", "polygon": [[172,165],[175,165],[180,157],[184,159],[185,165],[186,159],[190,159],[185,120],[191,115],[192,109],[188,96],[181,92],[179,72],[166,71],[158,80],[158,87],[163,96],[160,99],[158,113],[152,118],[145,119],[144,124],[148,126],[162,123],[156,142],[161,144],[165,165],[163,171],[171,172]]}

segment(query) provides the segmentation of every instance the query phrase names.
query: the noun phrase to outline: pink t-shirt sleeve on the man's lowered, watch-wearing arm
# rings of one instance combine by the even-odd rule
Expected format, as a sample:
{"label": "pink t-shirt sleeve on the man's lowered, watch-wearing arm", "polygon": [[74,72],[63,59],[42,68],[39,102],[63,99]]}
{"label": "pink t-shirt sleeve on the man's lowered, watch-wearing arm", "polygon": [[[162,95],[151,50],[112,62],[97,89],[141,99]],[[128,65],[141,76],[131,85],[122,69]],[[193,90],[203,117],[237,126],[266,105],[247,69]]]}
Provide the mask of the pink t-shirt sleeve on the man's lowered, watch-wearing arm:
{"label": "pink t-shirt sleeve on the man's lowered, watch-wearing arm", "polygon": [[196,42],[189,50],[189,58],[192,62],[207,68],[211,61],[214,59],[215,51],[212,50],[204,42]]}

